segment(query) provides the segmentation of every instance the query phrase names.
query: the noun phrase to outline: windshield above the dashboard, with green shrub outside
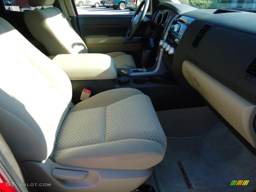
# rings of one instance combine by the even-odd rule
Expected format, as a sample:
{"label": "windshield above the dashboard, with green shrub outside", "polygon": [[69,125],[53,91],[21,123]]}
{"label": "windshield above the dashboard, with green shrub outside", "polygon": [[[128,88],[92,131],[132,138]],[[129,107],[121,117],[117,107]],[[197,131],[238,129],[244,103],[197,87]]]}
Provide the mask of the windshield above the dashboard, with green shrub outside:
{"label": "windshield above the dashboard, with green shrub outside", "polygon": [[[199,9],[235,9],[242,11],[256,11],[256,0],[175,0],[182,4],[190,5]],[[165,2],[174,2],[165,0]]]}

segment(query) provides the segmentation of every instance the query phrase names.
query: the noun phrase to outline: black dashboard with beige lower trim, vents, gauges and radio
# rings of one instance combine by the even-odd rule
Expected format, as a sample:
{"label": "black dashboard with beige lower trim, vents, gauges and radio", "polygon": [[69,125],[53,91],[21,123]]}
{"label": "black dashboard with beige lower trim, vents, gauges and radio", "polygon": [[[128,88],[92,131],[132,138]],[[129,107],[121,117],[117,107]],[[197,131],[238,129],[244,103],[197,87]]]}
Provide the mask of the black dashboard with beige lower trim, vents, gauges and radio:
{"label": "black dashboard with beige lower trim, vents, gauges and radio", "polygon": [[158,5],[158,51],[166,68],[191,95],[202,97],[256,147],[256,19],[237,10]]}

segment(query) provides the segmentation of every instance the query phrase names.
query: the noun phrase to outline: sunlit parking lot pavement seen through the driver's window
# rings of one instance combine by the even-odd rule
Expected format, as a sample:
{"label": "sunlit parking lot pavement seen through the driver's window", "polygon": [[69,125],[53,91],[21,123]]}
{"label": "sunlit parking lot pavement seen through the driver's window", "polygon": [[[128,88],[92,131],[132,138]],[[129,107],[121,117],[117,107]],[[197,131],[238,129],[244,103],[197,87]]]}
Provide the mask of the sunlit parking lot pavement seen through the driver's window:
{"label": "sunlit parking lot pavement seen through the driver's window", "polygon": [[77,7],[77,12],[79,15],[127,15],[134,14],[134,11],[129,9],[124,10],[114,10],[113,8],[106,7],[91,7],[91,6],[81,6]]}

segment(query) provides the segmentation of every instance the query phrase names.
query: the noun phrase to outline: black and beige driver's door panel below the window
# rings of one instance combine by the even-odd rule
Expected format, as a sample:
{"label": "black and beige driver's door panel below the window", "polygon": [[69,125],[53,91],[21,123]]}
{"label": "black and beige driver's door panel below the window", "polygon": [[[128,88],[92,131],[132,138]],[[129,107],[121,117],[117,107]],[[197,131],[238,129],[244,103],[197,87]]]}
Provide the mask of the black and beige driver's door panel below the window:
{"label": "black and beige driver's door panel below the window", "polygon": [[89,52],[142,50],[142,37],[126,41],[132,15],[79,15],[81,34]]}

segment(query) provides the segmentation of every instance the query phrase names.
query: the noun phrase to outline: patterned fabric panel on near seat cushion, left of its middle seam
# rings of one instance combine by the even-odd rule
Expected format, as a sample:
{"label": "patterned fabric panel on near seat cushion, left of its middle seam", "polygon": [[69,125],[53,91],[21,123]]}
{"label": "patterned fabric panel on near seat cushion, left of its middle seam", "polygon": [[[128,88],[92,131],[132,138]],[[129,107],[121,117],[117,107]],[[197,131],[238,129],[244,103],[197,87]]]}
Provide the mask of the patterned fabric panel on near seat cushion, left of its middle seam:
{"label": "patterned fabric panel on near seat cushion, left of its middle seam", "polygon": [[55,151],[105,142],[106,107],[69,113],[56,139]]}

